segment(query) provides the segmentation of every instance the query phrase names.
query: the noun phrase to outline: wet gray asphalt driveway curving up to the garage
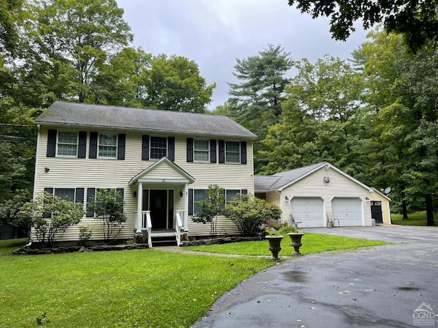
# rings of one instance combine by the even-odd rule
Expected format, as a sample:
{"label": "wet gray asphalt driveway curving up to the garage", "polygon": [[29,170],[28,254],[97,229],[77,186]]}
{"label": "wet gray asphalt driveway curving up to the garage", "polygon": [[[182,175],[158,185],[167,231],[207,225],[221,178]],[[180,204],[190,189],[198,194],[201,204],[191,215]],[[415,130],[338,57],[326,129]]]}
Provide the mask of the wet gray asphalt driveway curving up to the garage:
{"label": "wet gray asphalt driveway curving up to the garage", "polygon": [[307,231],[396,245],[280,262],[220,297],[193,327],[438,327],[438,228]]}

